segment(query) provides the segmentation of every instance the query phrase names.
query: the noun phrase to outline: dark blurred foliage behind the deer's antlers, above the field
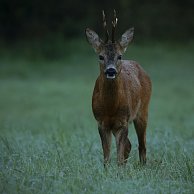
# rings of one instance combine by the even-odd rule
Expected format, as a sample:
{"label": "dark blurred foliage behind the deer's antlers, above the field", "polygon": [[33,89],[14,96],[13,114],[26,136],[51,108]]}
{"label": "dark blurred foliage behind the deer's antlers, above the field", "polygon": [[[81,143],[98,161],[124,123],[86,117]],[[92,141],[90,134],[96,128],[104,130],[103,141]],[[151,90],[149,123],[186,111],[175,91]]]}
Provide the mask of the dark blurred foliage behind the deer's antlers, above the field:
{"label": "dark blurred foliage behind the deer's antlers, above the field", "polygon": [[74,38],[89,26],[102,33],[101,10],[110,21],[117,10],[118,33],[135,26],[138,39],[190,40],[193,0],[1,0],[0,38],[6,42],[45,37]]}

